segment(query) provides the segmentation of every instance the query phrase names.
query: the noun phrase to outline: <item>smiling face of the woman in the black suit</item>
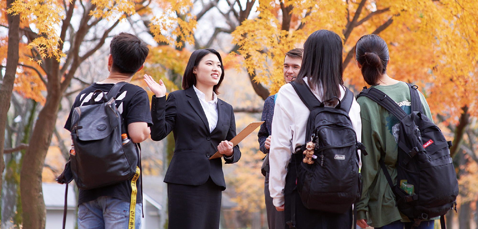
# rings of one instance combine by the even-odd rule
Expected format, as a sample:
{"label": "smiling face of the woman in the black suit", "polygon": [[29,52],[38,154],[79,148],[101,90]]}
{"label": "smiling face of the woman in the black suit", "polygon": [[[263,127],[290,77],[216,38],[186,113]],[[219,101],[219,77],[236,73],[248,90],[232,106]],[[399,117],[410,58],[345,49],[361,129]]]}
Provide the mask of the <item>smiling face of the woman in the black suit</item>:
{"label": "smiling face of the woman in the black suit", "polygon": [[194,67],[193,73],[196,75],[196,87],[212,87],[219,83],[222,74],[221,62],[216,54],[209,53]]}

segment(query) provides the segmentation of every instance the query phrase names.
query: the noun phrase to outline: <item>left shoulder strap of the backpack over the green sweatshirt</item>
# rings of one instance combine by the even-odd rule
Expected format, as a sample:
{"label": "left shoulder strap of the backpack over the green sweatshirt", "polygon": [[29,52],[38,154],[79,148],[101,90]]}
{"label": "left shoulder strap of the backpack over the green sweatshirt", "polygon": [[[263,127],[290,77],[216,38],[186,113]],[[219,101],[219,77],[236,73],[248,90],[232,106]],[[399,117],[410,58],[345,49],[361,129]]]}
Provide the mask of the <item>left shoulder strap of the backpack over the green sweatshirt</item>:
{"label": "left shoulder strap of the backpack over the green sweatshirt", "polygon": [[407,116],[407,113],[405,113],[402,108],[395,103],[395,101],[393,101],[387,94],[383,93],[377,88],[370,87],[368,89],[364,89],[362,92],[360,92],[357,98],[360,96],[365,96],[375,101],[377,104],[381,105],[383,108],[397,117],[398,120],[402,120],[405,116]]}

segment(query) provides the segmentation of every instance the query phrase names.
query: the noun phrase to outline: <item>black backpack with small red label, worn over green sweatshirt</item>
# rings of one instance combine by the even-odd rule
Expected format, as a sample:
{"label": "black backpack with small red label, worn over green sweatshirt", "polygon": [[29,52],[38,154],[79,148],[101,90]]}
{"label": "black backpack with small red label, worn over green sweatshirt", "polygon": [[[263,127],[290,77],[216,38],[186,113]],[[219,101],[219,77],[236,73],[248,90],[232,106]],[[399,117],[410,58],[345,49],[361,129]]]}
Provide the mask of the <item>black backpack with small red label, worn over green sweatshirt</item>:
{"label": "black backpack with small red label, worn over green sweatshirt", "polygon": [[449,147],[440,129],[423,113],[417,86],[407,83],[411,114],[406,114],[389,96],[376,88],[364,87],[357,96],[366,96],[387,109],[400,121],[397,185],[393,185],[381,152],[380,167],[395,194],[398,209],[417,227],[422,220],[444,215],[455,206],[458,181]]}

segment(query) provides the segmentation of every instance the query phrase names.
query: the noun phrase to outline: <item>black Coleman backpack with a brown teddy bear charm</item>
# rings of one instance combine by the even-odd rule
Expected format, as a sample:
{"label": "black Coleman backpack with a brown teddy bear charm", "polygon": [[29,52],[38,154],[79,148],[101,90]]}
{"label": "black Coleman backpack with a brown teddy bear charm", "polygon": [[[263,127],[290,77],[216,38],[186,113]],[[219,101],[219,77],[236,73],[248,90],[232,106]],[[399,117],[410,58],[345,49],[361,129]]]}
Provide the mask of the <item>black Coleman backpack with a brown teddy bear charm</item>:
{"label": "black Coleman backpack with a brown teddy bear charm", "polygon": [[[346,213],[361,196],[357,149],[360,148],[364,155],[367,154],[365,147],[357,142],[357,135],[348,116],[354,95],[345,88],[343,100],[339,101],[335,108],[326,107],[307,85],[297,82],[291,84],[310,110],[305,143],[311,141],[315,144],[313,164],[304,162],[306,144],[298,146],[292,155],[291,164],[296,170],[297,193],[305,208]],[[289,168],[289,173],[291,170]],[[286,186],[294,178],[286,177]],[[284,193],[289,194],[290,188],[286,189],[288,190]],[[294,203],[293,200],[291,203]],[[293,215],[291,218],[294,218]]]}

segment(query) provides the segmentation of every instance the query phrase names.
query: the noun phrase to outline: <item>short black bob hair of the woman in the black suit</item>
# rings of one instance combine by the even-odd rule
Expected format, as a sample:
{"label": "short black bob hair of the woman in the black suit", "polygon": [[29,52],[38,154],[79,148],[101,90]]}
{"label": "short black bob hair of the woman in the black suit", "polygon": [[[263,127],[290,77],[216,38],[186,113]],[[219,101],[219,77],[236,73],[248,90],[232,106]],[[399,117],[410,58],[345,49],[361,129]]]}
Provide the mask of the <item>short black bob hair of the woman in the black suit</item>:
{"label": "short black bob hair of the woman in the black suit", "polygon": [[219,94],[217,92],[217,88],[219,88],[222,80],[224,79],[224,66],[222,65],[221,55],[219,54],[219,52],[217,52],[214,49],[198,49],[194,51],[193,53],[191,53],[191,56],[189,57],[189,61],[187,62],[187,65],[186,65],[186,70],[184,71],[184,75],[183,75],[184,90],[196,84],[196,75],[193,73],[194,67],[197,67],[197,65],[199,64],[199,62],[201,62],[203,57],[209,53],[213,53],[217,55],[217,59],[219,59],[219,62],[221,62],[221,70],[222,70],[221,77],[219,78],[219,83],[214,85],[212,89],[214,93]]}

